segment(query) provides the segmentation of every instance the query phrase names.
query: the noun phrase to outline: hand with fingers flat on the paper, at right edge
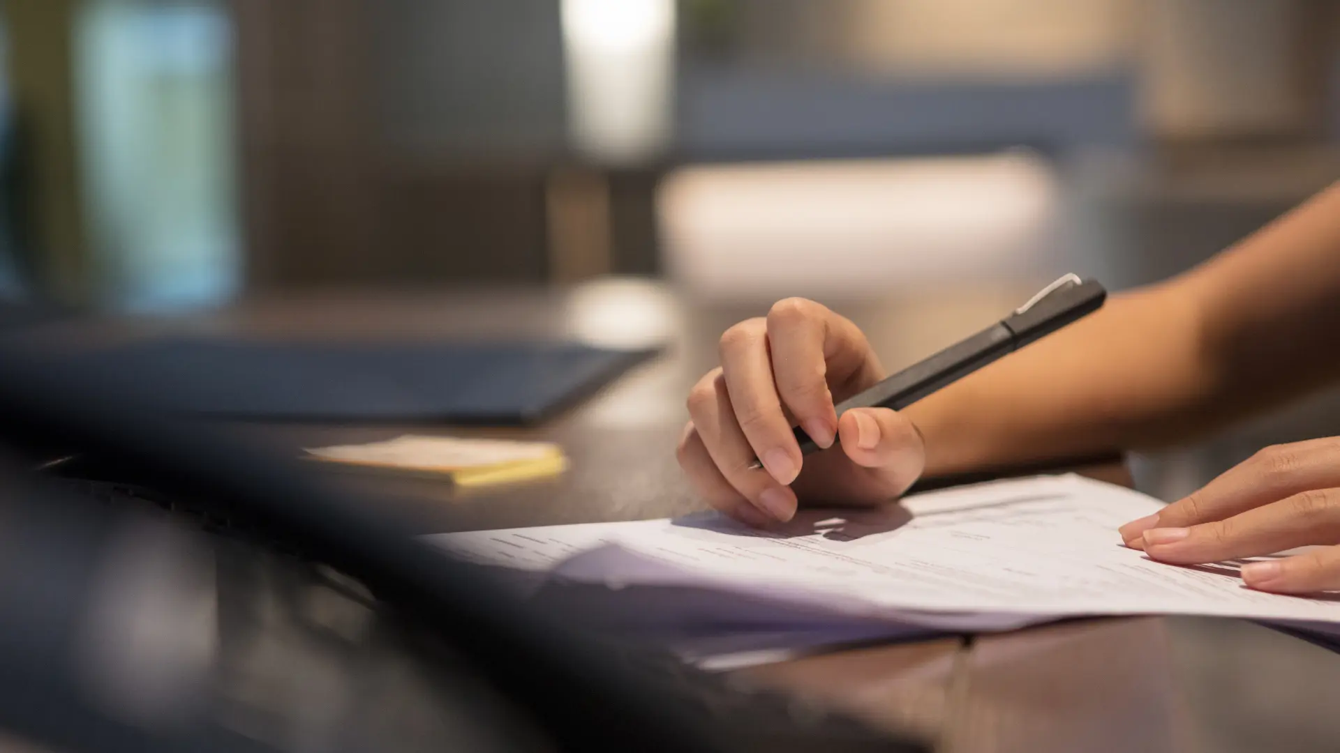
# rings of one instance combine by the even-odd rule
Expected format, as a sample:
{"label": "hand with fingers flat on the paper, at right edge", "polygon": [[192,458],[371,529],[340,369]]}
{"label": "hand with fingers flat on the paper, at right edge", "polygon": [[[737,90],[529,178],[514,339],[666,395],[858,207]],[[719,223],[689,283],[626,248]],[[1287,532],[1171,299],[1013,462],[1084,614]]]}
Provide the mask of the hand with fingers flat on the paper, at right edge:
{"label": "hand with fingers flat on the paper, at right edge", "polygon": [[1324,544],[1250,563],[1242,580],[1280,594],[1340,590],[1340,438],[1266,448],[1199,492],[1122,527],[1150,559],[1201,564]]}

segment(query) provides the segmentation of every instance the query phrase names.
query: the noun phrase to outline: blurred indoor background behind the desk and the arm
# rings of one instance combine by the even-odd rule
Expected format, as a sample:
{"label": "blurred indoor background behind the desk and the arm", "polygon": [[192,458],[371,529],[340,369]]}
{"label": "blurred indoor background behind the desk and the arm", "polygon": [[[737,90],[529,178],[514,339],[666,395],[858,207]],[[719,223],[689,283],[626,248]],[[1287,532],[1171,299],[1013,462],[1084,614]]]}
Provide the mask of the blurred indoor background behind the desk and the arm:
{"label": "blurred indoor background behind the desk and the arm", "polygon": [[[579,307],[618,344],[665,291],[722,323],[896,300],[898,366],[1060,272],[1182,271],[1340,177],[1329,0],[7,0],[0,24],[3,291],[96,311],[578,285],[632,301]],[[1332,403],[1142,484],[1336,433]]]}

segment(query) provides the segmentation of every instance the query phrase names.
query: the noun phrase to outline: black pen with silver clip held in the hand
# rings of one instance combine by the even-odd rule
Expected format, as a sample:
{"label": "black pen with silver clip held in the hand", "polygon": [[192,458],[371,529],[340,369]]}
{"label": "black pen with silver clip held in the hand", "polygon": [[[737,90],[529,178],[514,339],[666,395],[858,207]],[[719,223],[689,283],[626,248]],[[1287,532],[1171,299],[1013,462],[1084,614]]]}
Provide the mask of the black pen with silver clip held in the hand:
{"label": "black pen with silver clip held in the hand", "polygon": [[[854,407],[902,410],[988,363],[1097,311],[1106,299],[1103,285],[1093,280],[1080,280],[1076,275],[1065,275],[996,324],[838,403],[838,415]],[[801,454],[808,456],[820,449],[799,426],[795,434]],[[833,442],[836,443],[836,438]],[[760,468],[762,462],[757,460],[750,466]]]}

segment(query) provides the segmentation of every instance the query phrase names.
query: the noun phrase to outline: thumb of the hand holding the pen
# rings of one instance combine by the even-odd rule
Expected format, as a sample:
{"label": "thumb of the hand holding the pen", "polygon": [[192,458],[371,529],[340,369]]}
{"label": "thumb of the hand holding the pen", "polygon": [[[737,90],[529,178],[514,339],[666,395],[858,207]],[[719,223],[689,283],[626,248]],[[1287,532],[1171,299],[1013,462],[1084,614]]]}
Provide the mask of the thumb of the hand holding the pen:
{"label": "thumb of the hand holding the pen", "polygon": [[926,468],[926,445],[913,422],[887,407],[854,407],[838,419],[842,450],[876,473],[891,496],[907,490]]}

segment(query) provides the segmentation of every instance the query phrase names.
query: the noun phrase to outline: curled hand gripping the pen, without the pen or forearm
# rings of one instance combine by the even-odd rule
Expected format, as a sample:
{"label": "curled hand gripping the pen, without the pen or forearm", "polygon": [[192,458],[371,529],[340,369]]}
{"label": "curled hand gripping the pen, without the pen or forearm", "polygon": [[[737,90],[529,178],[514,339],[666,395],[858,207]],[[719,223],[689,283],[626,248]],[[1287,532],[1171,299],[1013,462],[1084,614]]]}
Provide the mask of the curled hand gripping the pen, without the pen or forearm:
{"label": "curled hand gripping the pen, without the pen or forearm", "polygon": [[[803,501],[874,504],[896,497],[921,474],[921,434],[888,409],[843,401],[884,374],[850,320],[804,299],[721,336],[721,367],[689,394],[678,458],[717,509],[752,525],[789,520]],[[823,452],[801,457],[792,426]],[[840,448],[833,448],[835,437]],[[750,469],[754,458],[764,469]]]}

